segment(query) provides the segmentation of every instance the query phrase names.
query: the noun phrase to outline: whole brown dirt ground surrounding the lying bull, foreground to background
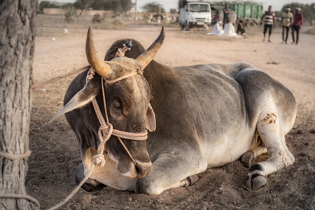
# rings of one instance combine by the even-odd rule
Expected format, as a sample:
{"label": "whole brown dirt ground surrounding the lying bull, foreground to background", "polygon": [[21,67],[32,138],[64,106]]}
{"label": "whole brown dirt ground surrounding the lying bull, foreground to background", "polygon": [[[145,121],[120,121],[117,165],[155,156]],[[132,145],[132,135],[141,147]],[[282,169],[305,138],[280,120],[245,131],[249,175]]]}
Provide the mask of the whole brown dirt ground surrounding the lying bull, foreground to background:
{"label": "whole brown dirt ground surrounding the lying bull, foreground to background", "polygon": [[[39,20],[45,17],[38,17]],[[69,33],[64,33],[64,27]],[[120,38],[134,38],[147,48],[161,27],[126,25],[119,30],[94,29],[99,57]],[[248,29],[248,38],[207,36],[207,32],[166,27],[166,38],[155,61],[169,66],[206,63],[250,62],[286,85],[298,104],[297,120],[286,135],[295,164],[268,176],[267,186],[244,188],[246,169],[241,162],[208,169],[188,188],[174,188],[161,195],[137,195],[104,188],[97,193],[79,190],[60,209],[315,209],[315,35],[302,27],[298,45],[281,44],[281,30],[272,43],[262,42],[262,28]],[[34,84],[87,65],[87,27],[71,24],[38,24]],[[291,36],[289,36],[289,43]],[[76,75],[62,78],[33,92],[29,134],[27,192],[47,209],[63,200],[76,183],[74,170],[80,163],[76,139],[64,116],[42,127],[59,109],[66,88]],[[260,159],[265,159],[263,156]]]}

